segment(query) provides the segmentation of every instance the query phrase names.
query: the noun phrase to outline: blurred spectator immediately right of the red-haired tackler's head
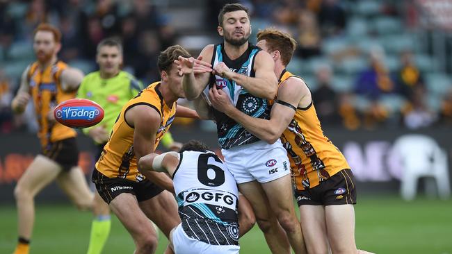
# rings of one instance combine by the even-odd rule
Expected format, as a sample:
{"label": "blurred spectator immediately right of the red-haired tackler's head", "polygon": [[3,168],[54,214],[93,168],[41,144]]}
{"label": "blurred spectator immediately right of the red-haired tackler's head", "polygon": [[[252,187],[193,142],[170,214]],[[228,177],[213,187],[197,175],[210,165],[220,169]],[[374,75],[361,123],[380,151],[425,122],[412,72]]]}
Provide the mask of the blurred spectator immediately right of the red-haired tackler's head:
{"label": "blurred spectator immediately right of the red-haired tackler's head", "polygon": [[300,57],[311,58],[321,54],[322,38],[314,13],[309,10],[298,12],[297,32]]}

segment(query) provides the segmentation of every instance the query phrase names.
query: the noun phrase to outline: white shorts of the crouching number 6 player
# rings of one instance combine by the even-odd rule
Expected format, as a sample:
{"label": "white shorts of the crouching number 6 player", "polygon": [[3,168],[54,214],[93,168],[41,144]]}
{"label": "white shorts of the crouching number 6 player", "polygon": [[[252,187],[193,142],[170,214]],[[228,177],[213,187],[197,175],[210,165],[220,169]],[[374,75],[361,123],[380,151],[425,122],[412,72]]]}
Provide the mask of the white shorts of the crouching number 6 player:
{"label": "white shorts of the crouching number 6 player", "polygon": [[237,254],[240,250],[240,246],[238,245],[211,245],[190,238],[186,235],[184,229],[182,229],[181,224],[179,224],[172,232],[172,245],[175,248],[176,254]]}

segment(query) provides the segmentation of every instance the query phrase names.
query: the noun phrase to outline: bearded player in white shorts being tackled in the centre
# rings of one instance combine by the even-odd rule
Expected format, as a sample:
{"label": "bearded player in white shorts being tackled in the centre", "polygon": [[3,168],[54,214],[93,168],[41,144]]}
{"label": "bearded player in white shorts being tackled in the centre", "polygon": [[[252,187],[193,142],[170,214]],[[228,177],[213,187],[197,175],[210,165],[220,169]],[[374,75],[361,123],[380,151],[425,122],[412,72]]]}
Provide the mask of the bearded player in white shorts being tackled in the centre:
{"label": "bearded player in white shorts being tackled in the centre", "polygon": [[[223,43],[204,46],[198,57],[211,65],[211,72],[195,75],[200,66],[193,58],[180,57],[175,61],[179,75],[183,76],[186,98],[198,99],[206,87],[210,90],[216,87],[246,115],[270,119],[267,99],[275,99],[277,93],[275,63],[269,53],[248,42],[251,33],[248,9],[239,3],[223,6],[218,14],[217,31]],[[227,167],[240,192],[250,201],[271,252],[290,253],[292,246],[295,253],[306,253],[293,205],[289,159],[281,142],[261,141],[215,108],[209,115],[216,121],[218,143]]]}

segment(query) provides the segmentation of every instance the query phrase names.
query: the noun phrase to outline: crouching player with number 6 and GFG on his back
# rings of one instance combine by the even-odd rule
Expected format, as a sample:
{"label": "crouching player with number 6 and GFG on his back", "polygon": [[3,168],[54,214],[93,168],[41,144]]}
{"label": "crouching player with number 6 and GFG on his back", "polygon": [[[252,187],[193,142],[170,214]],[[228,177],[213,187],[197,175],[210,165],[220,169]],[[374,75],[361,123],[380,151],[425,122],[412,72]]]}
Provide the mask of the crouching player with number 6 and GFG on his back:
{"label": "crouching player with number 6 and GFG on his back", "polygon": [[239,253],[239,192],[213,151],[191,140],[179,153],[151,153],[138,166],[172,176],[181,217],[170,233],[176,254]]}

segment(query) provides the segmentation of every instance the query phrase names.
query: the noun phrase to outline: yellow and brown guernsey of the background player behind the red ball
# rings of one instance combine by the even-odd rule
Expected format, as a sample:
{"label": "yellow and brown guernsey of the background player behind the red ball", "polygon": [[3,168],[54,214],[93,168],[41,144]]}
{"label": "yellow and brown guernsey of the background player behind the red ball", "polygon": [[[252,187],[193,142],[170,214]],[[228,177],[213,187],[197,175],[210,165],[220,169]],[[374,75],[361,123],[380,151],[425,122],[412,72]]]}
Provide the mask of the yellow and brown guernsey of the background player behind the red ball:
{"label": "yellow and brown guernsey of the background player behind the red ball", "polygon": [[38,62],[34,62],[27,74],[38,119],[38,137],[42,148],[46,148],[51,142],[76,136],[76,132],[72,128],[47,119],[50,110],[58,103],[75,97],[76,91],[64,92],[61,87],[60,76],[66,68],[67,65],[61,61],[45,69],[40,69]]}

